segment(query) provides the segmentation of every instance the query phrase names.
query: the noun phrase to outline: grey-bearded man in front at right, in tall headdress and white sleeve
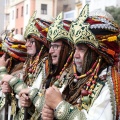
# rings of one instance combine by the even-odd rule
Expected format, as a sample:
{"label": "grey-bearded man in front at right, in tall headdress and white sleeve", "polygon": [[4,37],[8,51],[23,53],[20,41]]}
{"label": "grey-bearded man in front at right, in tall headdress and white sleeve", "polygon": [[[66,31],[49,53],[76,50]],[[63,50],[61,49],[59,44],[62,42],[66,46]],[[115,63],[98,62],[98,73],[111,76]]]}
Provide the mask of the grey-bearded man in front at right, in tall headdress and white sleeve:
{"label": "grey-bearded man in front at right, in tall headdress and white sleeve", "polygon": [[[118,120],[118,25],[107,12],[98,10],[89,15],[86,5],[69,33],[75,44],[73,75],[62,95],[55,86],[46,90],[45,104],[58,120]],[[42,118],[49,116],[46,109]]]}

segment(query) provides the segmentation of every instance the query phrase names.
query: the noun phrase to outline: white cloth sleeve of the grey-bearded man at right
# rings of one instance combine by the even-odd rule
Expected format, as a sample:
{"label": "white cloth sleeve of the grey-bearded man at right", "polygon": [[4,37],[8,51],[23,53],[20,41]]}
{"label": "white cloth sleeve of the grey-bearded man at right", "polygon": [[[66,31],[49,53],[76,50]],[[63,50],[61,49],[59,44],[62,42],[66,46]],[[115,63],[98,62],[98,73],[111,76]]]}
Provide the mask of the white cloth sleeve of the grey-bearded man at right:
{"label": "white cloth sleeve of the grey-bearded man at right", "polygon": [[113,120],[110,91],[107,83],[89,111],[82,111],[85,113],[87,120]]}

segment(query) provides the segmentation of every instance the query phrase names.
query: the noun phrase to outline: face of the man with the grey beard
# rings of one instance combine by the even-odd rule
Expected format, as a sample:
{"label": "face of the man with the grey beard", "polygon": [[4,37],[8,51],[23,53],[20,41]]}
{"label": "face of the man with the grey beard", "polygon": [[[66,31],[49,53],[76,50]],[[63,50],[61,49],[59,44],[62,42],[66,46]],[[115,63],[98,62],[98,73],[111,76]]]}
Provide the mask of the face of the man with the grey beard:
{"label": "face of the man with the grey beard", "polygon": [[84,55],[87,51],[88,47],[84,44],[78,44],[75,47],[75,54],[74,54],[74,62],[77,68],[77,72],[81,73],[82,66],[84,62]]}

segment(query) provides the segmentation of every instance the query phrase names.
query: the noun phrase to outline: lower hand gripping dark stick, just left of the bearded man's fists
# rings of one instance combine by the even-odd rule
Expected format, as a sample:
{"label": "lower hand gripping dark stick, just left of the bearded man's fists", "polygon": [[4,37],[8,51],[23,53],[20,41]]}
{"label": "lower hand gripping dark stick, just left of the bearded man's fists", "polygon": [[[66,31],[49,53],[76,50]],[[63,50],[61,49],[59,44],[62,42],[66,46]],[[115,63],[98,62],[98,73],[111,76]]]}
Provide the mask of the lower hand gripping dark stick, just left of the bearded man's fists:
{"label": "lower hand gripping dark stick, just left of the bearded man's fists", "polygon": [[[27,98],[27,99],[26,99]],[[20,100],[20,105],[22,107],[30,107],[32,102],[30,101],[30,99],[27,97],[26,94],[22,94],[20,97],[19,97],[19,100]]]}

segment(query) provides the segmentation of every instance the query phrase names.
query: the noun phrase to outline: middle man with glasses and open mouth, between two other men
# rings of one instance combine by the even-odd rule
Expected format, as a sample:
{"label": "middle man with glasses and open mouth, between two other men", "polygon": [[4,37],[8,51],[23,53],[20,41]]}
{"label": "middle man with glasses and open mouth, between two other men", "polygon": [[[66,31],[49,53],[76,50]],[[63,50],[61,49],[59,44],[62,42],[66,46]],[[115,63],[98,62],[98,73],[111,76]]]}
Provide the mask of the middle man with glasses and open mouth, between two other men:
{"label": "middle man with glasses and open mouth, between two other men", "polygon": [[47,34],[47,39],[50,41],[48,76],[45,80],[43,80],[41,89],[21,91],[19,94],[20,96],[23,93],[28,94],[39,112],[42,111],[44,105],[45,89],[55,84],[60,88],[62,92],[63,88],[61,88],[61,85],[63,82],[66,82],[68,80],[66,79],[68,78],[67,73],[70,70],[74,53],[73,45],[69,42],[68,39],[70,24],[71,21],[63,20],[61,13],[49,27]]}

